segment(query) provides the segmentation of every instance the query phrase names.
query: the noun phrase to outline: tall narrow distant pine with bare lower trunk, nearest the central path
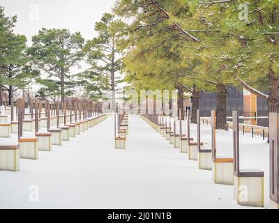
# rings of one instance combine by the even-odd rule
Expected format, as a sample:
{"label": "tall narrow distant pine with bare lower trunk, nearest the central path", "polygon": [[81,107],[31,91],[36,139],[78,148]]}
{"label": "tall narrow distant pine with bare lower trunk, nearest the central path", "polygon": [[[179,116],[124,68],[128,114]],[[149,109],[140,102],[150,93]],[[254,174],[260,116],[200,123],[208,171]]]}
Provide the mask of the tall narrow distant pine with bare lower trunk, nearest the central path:
{"label": "tall narrow distant pine with bare lower trunk, nearest the central path", "polygon": [[[115,111],[117,84],[123,82],[123,80],[116,77],[117,72],[121,70],[122,66],[117,41],[123,35],[125,27],[126,25],[121,20],[116,19],[114,15],[105,13],[100,22],[95,24],[98,36],[86,44],[86,49],[89,52],[87,54],[87,61],[91,65],[87,75],[90,75],[93,79],[103,79],[105,81],[105,88],[107,87],[106,77],[110,79],[112,111]],[[97,77],[98,75],[100,76]],[[96,91],[96,87],[93,86],[87,86],[86,89],[90,91],[91,88],[93,88],[93,91]]]}

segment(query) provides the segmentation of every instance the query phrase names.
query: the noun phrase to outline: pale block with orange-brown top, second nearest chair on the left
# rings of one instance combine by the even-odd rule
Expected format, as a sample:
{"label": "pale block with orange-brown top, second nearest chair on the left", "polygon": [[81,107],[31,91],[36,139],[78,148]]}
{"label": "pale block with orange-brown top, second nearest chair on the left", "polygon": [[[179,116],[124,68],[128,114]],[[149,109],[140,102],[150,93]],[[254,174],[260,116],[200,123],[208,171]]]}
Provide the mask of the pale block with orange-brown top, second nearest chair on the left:
{"label": "pale block with orange-brown top, second nearest chair on the left", "polygon": [[38,160],[39,144],[38,138],[21,138],[20,142],[20,157],[30,160]]}

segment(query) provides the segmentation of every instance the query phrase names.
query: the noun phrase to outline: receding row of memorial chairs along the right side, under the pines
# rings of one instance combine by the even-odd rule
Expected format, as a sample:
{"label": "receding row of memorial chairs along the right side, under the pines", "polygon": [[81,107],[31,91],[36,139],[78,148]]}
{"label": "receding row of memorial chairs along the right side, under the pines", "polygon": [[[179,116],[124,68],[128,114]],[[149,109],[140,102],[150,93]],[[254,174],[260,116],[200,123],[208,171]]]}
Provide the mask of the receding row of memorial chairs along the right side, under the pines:
{"label": "receding row of memorial chairs along the right side, under the pines", "polygon": [[[174,114],[175,111],[174,111]],[[264,207],[264,171],[258,169],[240,169],[239,165],[239,114],[233,112],[233,154],[234,157],[220,157],[216,150],[216,111],[211,111],[211,146],[203,149],[201,141],[200,113],[197,111],[197,141],[190,137],[190,111],[186,114],[186,134],[182,134],[181,112],[179,112],[179,134],[176,130],[176,117],[160,115],[141,116],[146,123],[162,134],[162,136],[173,144],[174,148],[180,148],[181,153],[188,153],[188,160],[196,160],[199,169],[212,170],[213,182],[223,185],[234,185],[234,199],[239,205]],[[278,114],[272,120],[279,123]],[[271,125],[270,125],[271,128]],[[274,125],[273,125],[274,128]],[[271,147],[271,208],[279,208],[278,199],[278,127],[273,130],[273,143]],[[276,145],[274,145],[276,144]],[[277,157],[277,158],[276,158]]]}

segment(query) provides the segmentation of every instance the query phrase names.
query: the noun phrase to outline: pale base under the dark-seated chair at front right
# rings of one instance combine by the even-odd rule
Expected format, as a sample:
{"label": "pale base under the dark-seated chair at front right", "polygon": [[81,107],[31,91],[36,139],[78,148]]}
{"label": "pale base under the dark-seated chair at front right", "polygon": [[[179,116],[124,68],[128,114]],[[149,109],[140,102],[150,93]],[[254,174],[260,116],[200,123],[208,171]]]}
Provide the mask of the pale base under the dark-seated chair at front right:
{"label": "pale base under the dark-seated chair at front right", "polygon": [[264,207],[264,177],[234,176],[234,199],[242,206]]}

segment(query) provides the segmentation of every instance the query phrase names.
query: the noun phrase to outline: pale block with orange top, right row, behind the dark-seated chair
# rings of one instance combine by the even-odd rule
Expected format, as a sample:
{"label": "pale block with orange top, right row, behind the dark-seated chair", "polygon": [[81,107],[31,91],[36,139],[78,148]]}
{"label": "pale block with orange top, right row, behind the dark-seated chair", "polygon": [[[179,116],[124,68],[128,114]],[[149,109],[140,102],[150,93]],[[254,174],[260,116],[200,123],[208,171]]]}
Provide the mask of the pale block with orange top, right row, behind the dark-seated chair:
{"label": "pale block with orange top, right row, behind the dark-seated chair", "polygon": [[224,185],[234,185],[233,159],[224,159],[223,162],[213,162],[212,174],[213,174],[214,183],[224,184]]}

